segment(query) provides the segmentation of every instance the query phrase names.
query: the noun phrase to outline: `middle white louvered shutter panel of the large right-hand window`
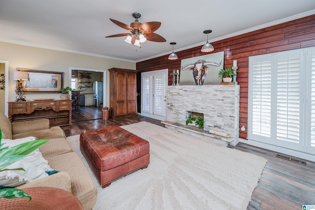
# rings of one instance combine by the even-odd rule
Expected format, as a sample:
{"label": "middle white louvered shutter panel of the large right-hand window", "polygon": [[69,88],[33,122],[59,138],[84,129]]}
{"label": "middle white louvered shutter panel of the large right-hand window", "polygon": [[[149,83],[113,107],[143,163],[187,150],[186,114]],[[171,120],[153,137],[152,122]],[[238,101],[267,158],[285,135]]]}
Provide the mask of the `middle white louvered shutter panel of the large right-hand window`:
{"label": "middle white louvered shutter panel of the large right-hand window", "polygon": [[277,61],[277,139],[299,142],[300,58]]}

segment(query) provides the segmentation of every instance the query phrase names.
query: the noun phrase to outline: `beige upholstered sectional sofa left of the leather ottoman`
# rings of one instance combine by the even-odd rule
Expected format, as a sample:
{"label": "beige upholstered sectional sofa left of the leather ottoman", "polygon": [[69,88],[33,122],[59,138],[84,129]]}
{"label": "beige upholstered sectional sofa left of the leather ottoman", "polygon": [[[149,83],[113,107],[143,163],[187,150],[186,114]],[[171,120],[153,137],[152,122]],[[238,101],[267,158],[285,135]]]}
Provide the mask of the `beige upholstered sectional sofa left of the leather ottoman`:
{"label": "beige upholstered sectional sofa left of the leather ottoman", "polygon": [[48,119],[11,123],[4,114],[0,113],[0,129],[2,139],[36,137],[50,140],[41,146],[39,151],[48,161],[49,166],[59,171],[16,188],[22,190],[40,186],[60,188],[72,193],[80,201],[84,210],[93,209],[97,196],[95,183],[81,158],[72,151],[60,127],[49,128]]}

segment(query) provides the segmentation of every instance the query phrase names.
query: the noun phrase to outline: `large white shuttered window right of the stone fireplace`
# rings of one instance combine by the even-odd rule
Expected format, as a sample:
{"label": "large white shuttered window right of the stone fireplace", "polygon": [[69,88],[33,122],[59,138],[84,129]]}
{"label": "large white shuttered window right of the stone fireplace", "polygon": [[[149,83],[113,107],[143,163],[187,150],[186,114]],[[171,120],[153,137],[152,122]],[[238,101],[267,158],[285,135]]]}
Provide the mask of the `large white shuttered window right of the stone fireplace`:
{"label": "large white shuttered window right of the stone fireplace", "polygon": [[248,107],[250,140],[315,153],[315,48],[250,57]]}

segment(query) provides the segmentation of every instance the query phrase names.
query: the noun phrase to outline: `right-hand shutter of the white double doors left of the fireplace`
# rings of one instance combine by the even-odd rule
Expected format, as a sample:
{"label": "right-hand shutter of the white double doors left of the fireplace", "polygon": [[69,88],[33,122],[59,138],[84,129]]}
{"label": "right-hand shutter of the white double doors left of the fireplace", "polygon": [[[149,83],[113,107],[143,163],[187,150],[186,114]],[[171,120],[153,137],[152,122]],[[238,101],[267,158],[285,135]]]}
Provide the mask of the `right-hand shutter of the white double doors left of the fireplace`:
{"label": "right-hand shutter of the white double doors left of the fireplace", "polygon": [[163,110],[163,75],[155,75],[154,78],[154,114],[162,114]]}

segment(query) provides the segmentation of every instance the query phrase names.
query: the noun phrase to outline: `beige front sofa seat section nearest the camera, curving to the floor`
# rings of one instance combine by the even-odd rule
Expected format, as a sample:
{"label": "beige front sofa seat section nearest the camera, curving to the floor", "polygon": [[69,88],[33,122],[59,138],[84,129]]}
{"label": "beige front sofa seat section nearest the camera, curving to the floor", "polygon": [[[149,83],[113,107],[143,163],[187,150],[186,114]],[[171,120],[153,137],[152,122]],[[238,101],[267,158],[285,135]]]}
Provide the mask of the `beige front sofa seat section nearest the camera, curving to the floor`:
{"label": "beige front sofa seat section nearest the camera, curving to the floor", "polygon": [[96,203],[95,183],[79,155],[68,152],[47,158],[49,165],[60,172],[70,175],[72,194],[80,201],[85,210],[91,210]]}

